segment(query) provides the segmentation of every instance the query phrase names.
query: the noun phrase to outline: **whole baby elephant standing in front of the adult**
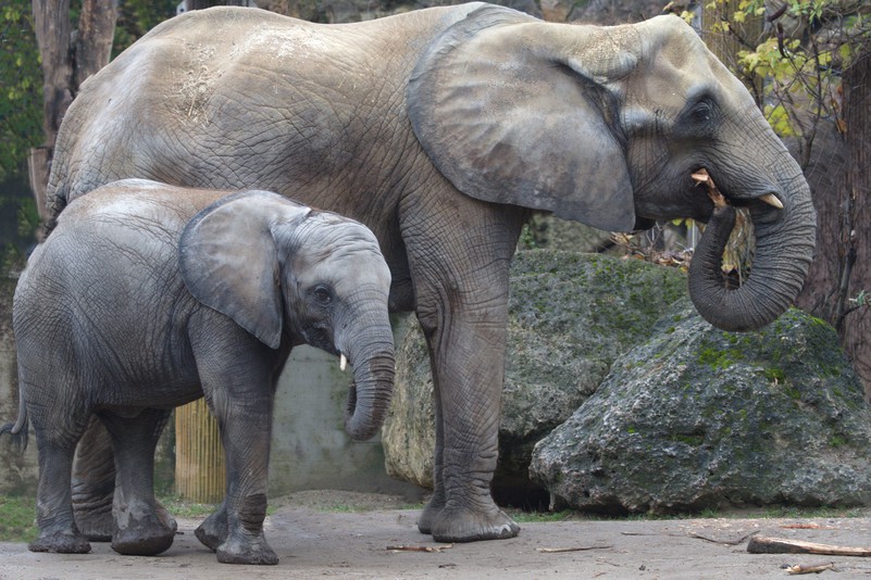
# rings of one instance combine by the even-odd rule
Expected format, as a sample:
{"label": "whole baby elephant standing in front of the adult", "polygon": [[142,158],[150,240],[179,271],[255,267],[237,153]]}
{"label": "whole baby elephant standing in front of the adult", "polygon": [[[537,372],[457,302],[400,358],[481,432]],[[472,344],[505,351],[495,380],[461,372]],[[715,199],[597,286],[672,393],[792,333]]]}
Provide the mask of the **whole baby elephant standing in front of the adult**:
{"label": "whole baby elephant standing in front of the adult", "polygon": [[153,453],[173,407],[204,395],[226,451],[224,503],[197,530],[219,562],[275,564],[263,535],[275,383],[308,343],[353,366],[345,426],[375,434],[394,380],[390,273],[363,225],[275,193],[130,179],[76,200],[18,280],[22,406],[11,432],[39,452],[35,552],[86,553],[71,505],[76,443],[108,428],[117,479],[112,547],[151,555],[175,522]]}

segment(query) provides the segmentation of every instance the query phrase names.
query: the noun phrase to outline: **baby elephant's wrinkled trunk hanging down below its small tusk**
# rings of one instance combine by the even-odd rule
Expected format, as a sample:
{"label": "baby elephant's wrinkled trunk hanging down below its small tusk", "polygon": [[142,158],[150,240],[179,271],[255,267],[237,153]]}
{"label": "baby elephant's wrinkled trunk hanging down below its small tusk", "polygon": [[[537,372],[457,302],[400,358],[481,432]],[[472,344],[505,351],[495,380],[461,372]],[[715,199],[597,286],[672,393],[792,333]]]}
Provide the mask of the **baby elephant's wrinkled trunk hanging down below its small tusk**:
{"label": "baby elephant's wrinkled trunk hanging down below its small tusk", "polygon": [[365,338],[350,340],[347,352],[353,365],[353,384],[348,391],[345,430],[357,441],[374,437],[384,423],[390,405],[396,369],[389,324],[364,326]]}

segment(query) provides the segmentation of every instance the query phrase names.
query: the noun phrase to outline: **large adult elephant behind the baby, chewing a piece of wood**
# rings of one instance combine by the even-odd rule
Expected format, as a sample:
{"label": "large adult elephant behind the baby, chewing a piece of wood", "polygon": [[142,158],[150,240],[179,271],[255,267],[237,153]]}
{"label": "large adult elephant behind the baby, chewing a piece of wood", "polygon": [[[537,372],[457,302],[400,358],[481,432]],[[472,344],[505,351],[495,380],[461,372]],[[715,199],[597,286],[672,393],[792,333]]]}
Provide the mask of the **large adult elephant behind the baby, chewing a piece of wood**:
{"label": "large adult elephant behind the baby, chewing a piece of wood", "polygon": [[[189,12],[85,84],[53,163],[55,213],[141,176],[299,194],[372,228],[391,308],[416,311],[430,348],[435,493],[419,527],[440,541],[519,531],[489,486],[508,267],[531,211],[607,230],[707,220],[713,204],[690,179],[706,168],[730,204],[750,209],[758,237],[739,290],[721,287],[722,248],[693,280],[699,312],[730,330],[788,306],[816,227],[799,167],[674,16],[602,28],[473,3],[331,26]],[[769,193],[782,210],[760,201]],[[98,497],[99,466],[83,465],[82,495]]]}

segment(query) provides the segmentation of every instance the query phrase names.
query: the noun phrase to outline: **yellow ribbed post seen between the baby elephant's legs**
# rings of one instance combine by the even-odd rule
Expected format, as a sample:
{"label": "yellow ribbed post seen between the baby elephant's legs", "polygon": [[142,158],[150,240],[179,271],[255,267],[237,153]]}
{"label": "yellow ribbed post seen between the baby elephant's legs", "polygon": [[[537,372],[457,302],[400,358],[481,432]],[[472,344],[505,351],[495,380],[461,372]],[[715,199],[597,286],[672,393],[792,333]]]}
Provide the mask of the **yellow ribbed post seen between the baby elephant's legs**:
{"label": "yellow ribbed post seen between the baby elephant's legs", "polygon": [[225,487],[224,447],[206,399],[176,408],[176,492],[185,500],[215,504],[224,499]]}

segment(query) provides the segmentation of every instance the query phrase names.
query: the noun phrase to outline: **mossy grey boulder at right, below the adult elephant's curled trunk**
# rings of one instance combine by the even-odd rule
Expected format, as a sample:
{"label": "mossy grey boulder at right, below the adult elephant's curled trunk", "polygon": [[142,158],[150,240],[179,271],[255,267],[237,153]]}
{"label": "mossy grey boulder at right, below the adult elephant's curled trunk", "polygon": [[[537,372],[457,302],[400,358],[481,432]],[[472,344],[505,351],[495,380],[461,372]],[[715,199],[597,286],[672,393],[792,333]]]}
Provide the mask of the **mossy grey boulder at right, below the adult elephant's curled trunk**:
{"label": "mossy grey boulder at right, below the adult elephant's curled trunk", "polygon": [[732,333],[688,301],[535,449],[558,504],[606,513],[868,505],[871,412],[834,330],[791,310]]}

